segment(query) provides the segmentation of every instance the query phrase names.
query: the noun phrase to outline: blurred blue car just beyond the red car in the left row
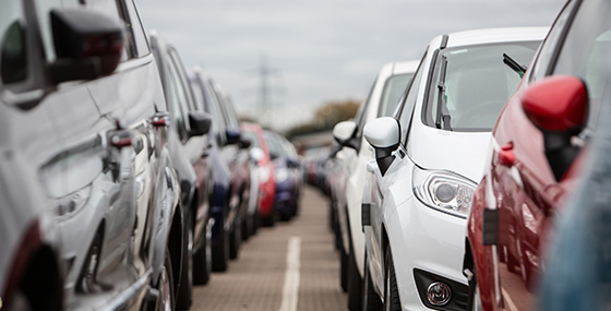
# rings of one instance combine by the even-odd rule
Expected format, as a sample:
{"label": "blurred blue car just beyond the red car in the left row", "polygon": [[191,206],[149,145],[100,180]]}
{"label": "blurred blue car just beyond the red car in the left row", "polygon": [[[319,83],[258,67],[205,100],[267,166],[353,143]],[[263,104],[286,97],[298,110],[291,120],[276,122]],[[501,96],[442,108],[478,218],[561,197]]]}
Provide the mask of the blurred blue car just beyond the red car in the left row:
{"label": "blurred blue car just beyond the red car in the left row", "polygon": [[[283,220],[289,220],[296,215],[299,205],[302,174],[299,174],[298,178],[296,178],[293,169],[299,163],[289,155],[285,142],[278,133],[265,130],[264,136],[269,148],[269,156],[274,163],[274,180],[276,182],[274,214]],[[272,225],[274,219],[265,219],[265,222],[267,225]]]}

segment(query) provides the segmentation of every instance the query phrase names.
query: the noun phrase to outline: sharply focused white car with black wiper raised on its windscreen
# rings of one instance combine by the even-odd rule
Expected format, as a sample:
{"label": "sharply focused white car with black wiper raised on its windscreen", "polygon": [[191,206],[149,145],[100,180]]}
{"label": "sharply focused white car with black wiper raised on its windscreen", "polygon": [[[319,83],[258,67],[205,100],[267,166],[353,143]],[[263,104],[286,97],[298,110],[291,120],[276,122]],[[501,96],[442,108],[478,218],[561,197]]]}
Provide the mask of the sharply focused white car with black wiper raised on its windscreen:
{"label": "sharply focused white car with black wiper raised on its windscreen", "polygon": [[364,310],[465,310],[465,231],[490,131],[547,28],[434,38],[392,117],[364,127]]}

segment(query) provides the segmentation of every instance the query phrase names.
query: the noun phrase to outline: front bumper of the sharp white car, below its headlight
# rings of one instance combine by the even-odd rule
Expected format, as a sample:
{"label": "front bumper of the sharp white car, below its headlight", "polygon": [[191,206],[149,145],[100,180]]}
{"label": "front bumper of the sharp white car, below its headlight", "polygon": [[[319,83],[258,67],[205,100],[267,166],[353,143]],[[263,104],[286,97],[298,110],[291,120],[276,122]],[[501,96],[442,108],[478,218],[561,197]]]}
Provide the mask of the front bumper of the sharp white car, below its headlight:
{"label": "front bumper of the sharp white car, below its headlight", "polygon": [[430,285],[422,280],[422,272],[452,283],[453,297],[448,303],[466,306],[467,279],[462,267],[467,220],[430,208],[415,196],[399,204],[387,219],[390,232],[400,232],[390,234],[388,238],[403,309],[431,307],[426,307],[428,301],[422,296]]}

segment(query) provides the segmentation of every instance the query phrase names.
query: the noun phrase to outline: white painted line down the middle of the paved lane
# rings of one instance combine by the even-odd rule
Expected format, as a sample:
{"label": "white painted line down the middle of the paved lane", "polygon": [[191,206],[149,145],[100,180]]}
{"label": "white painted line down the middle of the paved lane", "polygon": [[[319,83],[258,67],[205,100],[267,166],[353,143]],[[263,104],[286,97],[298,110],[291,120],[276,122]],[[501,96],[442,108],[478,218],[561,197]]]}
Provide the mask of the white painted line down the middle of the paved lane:
{"label": "white painted line down the middle of the paved lane", "polygon": [[287,270],[283,287],[283,302],[279,311],[296,311],[299,301],[299,268],[301,262],[301,238],[290,237],[287,248]]}

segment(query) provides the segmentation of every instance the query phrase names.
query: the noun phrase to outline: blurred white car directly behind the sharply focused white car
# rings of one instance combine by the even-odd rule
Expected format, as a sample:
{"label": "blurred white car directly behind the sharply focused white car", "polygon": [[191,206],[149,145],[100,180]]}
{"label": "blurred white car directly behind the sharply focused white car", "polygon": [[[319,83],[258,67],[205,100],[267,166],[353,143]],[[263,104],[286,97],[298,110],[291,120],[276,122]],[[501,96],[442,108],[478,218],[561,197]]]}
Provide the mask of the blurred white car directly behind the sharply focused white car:
{"label": "blurred white car directly behind the sharply focused white car", "polygon": [[364,124],[378,117],[392,116],[399,98],[405,94],[418,61],[392,62],[382,67],[369,98],[361,104],[355,121],[339,122],[334,136],[343,146],[337,154],[340,179],[332,200],[337,206],[340,228],[342,285],[348,291],[350,310],[361,310],[361,283],[363,275],[364,236],[361,225],[361,199],[364,187],[366,164],[373,157],[373,149],[362,136]]}

